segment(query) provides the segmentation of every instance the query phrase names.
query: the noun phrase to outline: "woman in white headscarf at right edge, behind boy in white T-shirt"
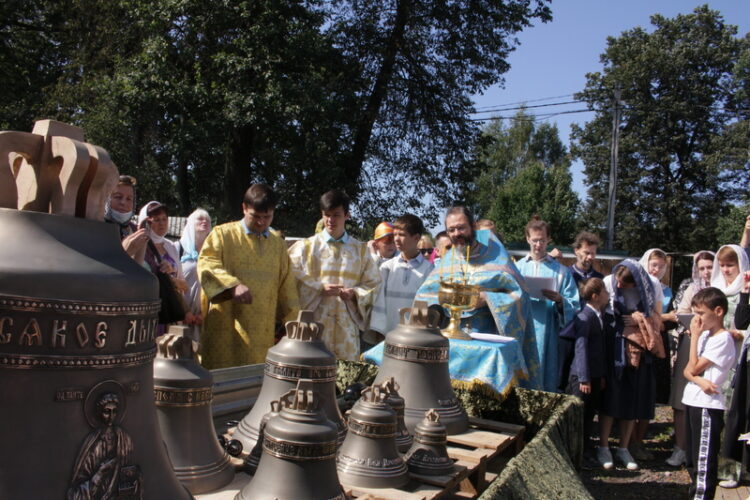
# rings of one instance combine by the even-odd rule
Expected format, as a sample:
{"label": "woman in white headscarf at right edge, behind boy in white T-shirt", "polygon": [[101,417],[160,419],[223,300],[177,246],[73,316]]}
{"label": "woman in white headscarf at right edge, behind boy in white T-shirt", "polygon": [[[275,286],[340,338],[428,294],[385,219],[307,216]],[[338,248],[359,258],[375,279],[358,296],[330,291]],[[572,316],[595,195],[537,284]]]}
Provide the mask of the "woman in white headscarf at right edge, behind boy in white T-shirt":
{"label": "woman in white headscarf at right edge, behind boy in white T-shirt", "polygon": [[[716,260],[711,272],[711,286],[718,288],[727,296],[729,304],[727,314],[724,316],[724,328],[729,330],[735,340],[736,352],[742,352],[744,334],[737,328],[734,322],[734,313],[740,301],[740,292],[744,287],[744,274],[750,271],[750,262],[747,253],[739,245],[724,245],[716,252]],[[728,381],[734,379],[733,368]],[[721,388],[727,397],[732,399],[731,383],[726,383]],[[732,459],[719,459],[719,486],[722,488],[736,488],[740,481],[741,464]]]}

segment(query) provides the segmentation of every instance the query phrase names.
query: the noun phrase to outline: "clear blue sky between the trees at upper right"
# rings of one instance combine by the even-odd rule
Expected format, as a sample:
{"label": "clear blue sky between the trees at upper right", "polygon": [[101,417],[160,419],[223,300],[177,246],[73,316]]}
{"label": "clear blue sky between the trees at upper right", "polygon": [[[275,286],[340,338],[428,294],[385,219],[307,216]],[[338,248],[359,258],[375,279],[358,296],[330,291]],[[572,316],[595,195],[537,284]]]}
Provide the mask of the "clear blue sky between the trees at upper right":
{"label": "clear blue sky between the trees at upper right", "polygon": [[[583,89],[586,73],[600,71],[599,56],[606,48],[608,36],[618,36],[636,26],[649,29],[650,16],[662,14],[674,17],[690,13],[706,2],[685,0],[556,0],[551,4],[552,21],[538,23],[519,34],[520,45],[510,56],[511,69],[505,74],[505,85],[492,87],[483,95],[475,96],[477,111],[515,107],[526,102],[529,106],[550,104],[572,99],[570,94]],[[738,36],[750,31],[749,0],[719,0],[708,2],[724,16],[725,22],[736,25]],[[533,102],[532,102],[533,101]],[[582,104],[548,106],[529,109],[535,114],[582,109]],[[511,116],[515,111],[498,114]],[[563,143],[568,144],[570,124],[583,124],[593,113],[563,114],[547,118],[556,123]],[[478,114],[485,118],[491,114]],[[573,165],[573,188],[585,198],[581,170]]]}

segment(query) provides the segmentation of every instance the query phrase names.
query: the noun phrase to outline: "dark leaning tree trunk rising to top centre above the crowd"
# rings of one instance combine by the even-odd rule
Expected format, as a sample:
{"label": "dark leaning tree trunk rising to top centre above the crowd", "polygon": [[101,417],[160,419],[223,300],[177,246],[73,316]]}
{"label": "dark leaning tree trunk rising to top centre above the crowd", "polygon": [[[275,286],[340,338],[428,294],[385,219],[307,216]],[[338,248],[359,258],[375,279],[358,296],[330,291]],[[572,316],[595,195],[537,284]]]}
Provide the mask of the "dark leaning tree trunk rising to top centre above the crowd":
{"label": "dark leaning tree trunk rising to top centre above the crowd", "polygon": [[372,129],[375,120],[378,117],[380,108],[383,105],[388,84],[393,76],[393,68],[396,64],[396,57],[403,48],[404,32],[406,23],[409,19],[411,9],[411,0],[401,0],[396,7],[396,19],[393,23],[393,31],[388,37],[388,43],[383,51],[383,59],[380,63],[380,70],[372,87],[372,92],[367,101],[367,107],[362,115],[362,119],[357,125],[357,131],[354,135],[354,144],[352,146],[352,174],[353,178],[359,180],[362,175],[362,165],[367,155],[367,146],[372,137]]}

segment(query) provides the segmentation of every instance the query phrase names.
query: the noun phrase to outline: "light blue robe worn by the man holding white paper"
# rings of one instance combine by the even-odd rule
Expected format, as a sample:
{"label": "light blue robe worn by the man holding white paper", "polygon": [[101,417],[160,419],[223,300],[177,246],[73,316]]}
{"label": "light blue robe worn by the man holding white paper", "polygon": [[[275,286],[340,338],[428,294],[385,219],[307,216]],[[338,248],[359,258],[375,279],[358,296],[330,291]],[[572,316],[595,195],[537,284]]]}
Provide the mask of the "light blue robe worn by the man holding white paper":
{"label": "light blue robe worn by the man holding white paper", "polygon": [[540,261],[526,256],[519,260],[517,265],[523,276],[553,278],[555,280],[554,291],[563,298],[561,306],[549,299],[529,298],[534,318],[536,345],[539,349],[542,389],[555,392],[560,376],[557,366],[557,337],[560,329],[572,321],[581,310],[578,287],[570,270],[549,255]]}

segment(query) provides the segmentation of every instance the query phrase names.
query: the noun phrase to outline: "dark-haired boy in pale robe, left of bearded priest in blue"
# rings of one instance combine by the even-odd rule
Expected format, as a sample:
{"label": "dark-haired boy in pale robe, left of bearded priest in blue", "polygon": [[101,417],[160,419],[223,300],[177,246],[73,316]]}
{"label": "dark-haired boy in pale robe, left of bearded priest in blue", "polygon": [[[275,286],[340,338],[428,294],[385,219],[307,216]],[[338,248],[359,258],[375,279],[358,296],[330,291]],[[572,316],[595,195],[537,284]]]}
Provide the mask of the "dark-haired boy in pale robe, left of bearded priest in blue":
{"label": "dark-haired boy in pale robe, left of bearded priest in blue", "polygon": [[380,266],[381,286],[372,308],[370,329],[385,335],[399,324],[399,310],[411,307],[414,295],[432,271],[432,263],[419,250],[424,233],[422,220],[402,215],[393,224],[398,256]]}

